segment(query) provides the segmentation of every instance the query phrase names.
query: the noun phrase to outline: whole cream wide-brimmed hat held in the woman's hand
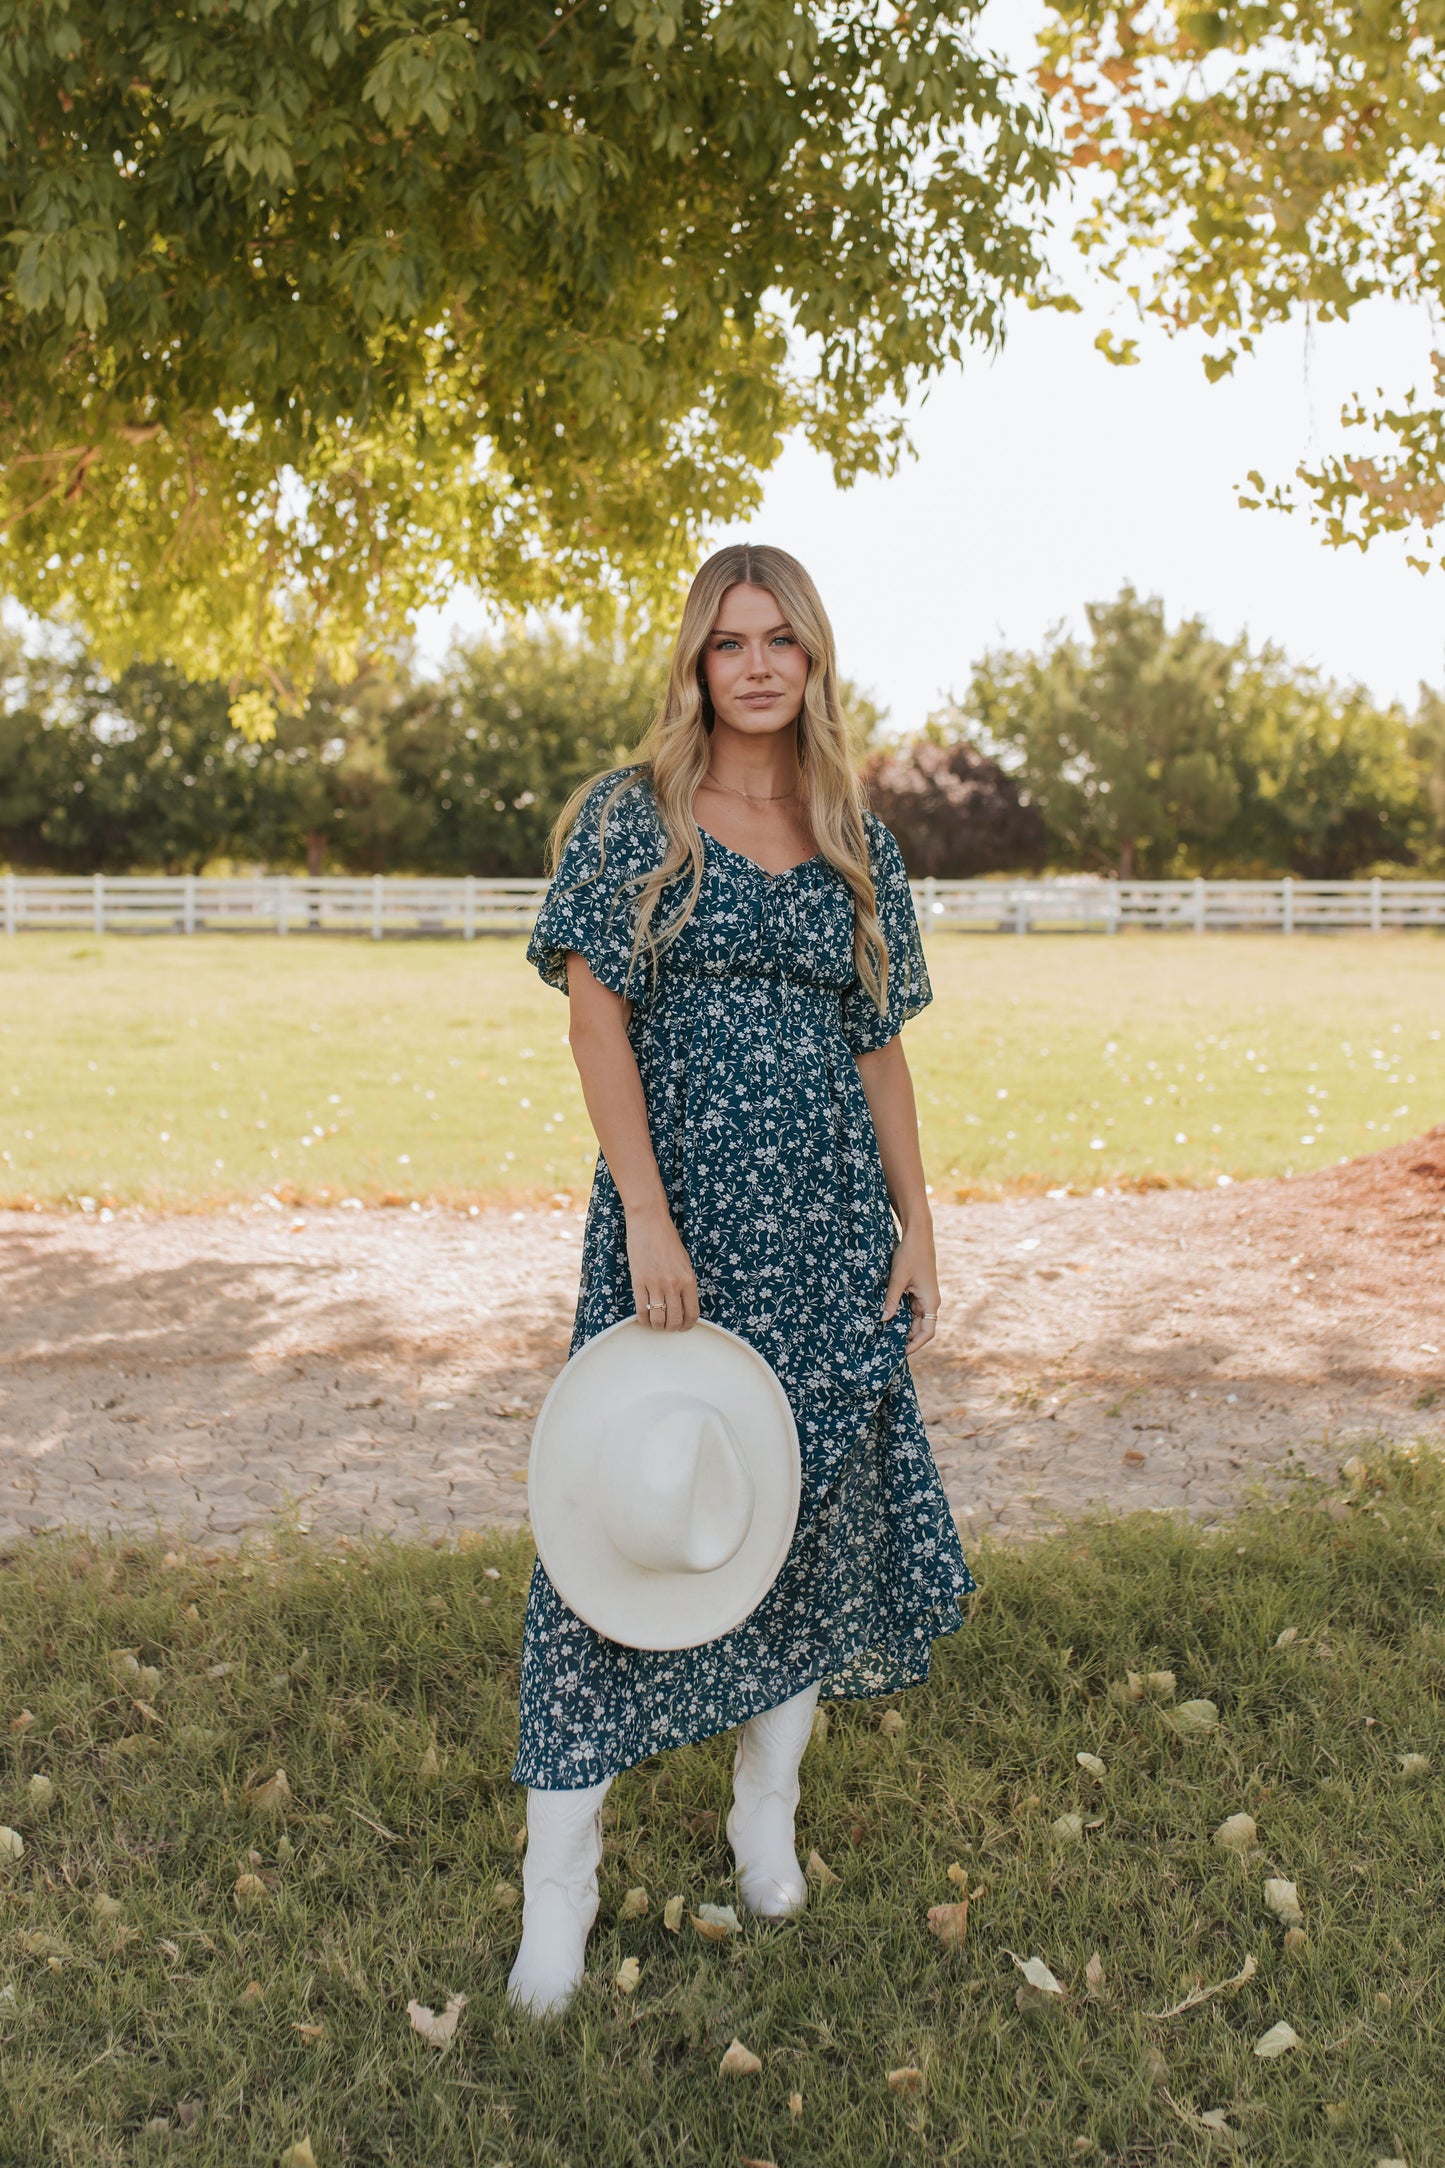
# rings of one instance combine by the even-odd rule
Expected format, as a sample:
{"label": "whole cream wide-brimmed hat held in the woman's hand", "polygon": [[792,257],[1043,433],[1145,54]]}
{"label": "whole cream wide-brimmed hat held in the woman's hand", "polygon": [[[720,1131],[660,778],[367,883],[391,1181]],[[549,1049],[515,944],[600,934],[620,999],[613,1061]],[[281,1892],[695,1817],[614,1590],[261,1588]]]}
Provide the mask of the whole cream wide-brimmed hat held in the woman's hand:
{"label": "whole cream wide-brimmed hat held in the woman's hand", "polygon": [[698,1648],[758,1609],[797,1526],[802,1461],[771,1364],[702,1318],[637,1318],[552,1381],[526,1463],[548,1580],[626,1648]]}

